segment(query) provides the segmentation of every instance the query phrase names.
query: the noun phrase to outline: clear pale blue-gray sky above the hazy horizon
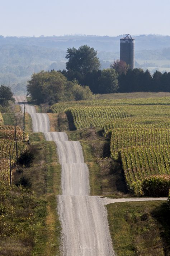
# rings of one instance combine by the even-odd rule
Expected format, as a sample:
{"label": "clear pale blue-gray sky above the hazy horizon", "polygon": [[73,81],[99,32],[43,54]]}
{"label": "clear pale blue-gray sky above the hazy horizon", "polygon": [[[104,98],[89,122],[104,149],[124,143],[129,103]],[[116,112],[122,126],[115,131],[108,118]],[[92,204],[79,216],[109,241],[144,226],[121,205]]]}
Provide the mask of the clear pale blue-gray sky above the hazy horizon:
{"label": "clear pale blue-gray sky above the hazy horizon", "polygon": [[170,0],[0,0],[0,35],[170,35]]}

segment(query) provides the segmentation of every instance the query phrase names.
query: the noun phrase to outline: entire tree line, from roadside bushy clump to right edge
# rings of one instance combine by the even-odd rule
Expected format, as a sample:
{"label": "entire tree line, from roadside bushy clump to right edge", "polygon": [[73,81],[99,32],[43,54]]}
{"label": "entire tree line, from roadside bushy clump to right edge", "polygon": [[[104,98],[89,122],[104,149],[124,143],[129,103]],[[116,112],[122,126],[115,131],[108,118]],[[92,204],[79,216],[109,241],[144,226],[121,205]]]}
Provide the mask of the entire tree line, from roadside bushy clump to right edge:
{"label": "entire tree line, from roadside bushy clump to right edge", "polygon": [[110,68],[100,69],[97,51],[88,45],[68,48],[66,69],[34,73],[27,91],[38,103],[90,99],[94,94],[135,91],[170,91],[170,72],[130,69],[116,60]]}

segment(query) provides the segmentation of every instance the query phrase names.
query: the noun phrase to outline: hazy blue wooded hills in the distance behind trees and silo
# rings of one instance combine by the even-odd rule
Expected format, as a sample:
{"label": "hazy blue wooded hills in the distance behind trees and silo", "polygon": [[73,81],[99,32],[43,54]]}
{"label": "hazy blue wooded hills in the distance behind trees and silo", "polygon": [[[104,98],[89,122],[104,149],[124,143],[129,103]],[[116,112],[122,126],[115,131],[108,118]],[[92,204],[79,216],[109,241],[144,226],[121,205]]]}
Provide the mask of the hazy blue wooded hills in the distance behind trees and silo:
{"label": "hazy blue wooded hills in the distance behind trees and silo", "polygon": [[[98,50],[101,68],[119,59],[120,38],[109,36],[0,36],[0,83],[9,84],[15,92],[24,93],[33,72],[65,68],[66,49],[87,44]],[[136,67],[170,71],[170,36],[140,35],[135,39]]]}

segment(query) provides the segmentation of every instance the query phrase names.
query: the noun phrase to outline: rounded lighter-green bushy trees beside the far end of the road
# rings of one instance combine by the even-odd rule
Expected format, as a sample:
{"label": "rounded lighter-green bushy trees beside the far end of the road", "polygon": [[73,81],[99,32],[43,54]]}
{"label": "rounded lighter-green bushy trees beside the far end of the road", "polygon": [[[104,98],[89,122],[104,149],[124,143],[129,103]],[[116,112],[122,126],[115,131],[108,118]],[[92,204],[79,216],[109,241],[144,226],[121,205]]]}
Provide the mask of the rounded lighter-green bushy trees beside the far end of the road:
{"label": "rounded lighter-green bushy trees beside the far end of the road", "polygon": [[92,97],[88,86],[80,86],[77,81],[67,81],[61,72],[41,71],[32,75],[28,81],[28,94],[38,103],[48,102],[52,105],[58,101],[84,100]]}

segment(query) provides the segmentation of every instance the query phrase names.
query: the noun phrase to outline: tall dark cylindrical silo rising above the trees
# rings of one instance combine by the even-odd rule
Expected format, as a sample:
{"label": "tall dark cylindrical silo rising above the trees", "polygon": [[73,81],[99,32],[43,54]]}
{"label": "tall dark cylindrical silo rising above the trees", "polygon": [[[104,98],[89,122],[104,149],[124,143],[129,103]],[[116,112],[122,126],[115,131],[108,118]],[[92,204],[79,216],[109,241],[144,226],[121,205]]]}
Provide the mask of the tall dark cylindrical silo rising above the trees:
{"label": "tall dark cylindrical silo rising above the trees", "polygon": [[131,35],[126,35],[120,39],[121,41],[121,56],[120,60],[126,62],[131,69],[134,69],[134,38]]}

